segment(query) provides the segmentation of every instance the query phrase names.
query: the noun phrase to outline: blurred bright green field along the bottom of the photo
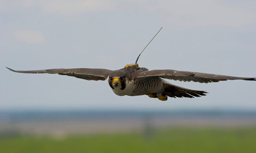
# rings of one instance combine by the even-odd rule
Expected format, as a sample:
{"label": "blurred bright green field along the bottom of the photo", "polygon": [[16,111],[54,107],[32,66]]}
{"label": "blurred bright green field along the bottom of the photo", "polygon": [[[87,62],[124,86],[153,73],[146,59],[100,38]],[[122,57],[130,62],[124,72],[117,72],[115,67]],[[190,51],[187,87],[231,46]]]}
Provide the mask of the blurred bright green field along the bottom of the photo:
{"label": "blurred bright green field along the bottom of the photo", "polygon": [[254,153],[256,128],[171,128],[64,138],[1,136],[1,153]]}

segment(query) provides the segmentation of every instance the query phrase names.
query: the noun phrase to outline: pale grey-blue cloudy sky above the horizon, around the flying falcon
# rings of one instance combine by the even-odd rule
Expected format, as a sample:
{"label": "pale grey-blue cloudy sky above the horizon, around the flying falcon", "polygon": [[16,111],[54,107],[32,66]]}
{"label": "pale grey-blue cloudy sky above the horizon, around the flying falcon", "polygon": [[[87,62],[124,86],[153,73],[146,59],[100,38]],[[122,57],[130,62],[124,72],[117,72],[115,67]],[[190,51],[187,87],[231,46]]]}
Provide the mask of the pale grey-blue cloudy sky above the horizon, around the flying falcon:
{"label": "pale grey-blue cloudy sky above the horizon, around the flying falcon", "polygon": [[256,81],[210,84],[200,98],[117,96],[107,81],[6,69],[140,67],[256,77],[253,0],[0,0],[0,110],[256,110]]}

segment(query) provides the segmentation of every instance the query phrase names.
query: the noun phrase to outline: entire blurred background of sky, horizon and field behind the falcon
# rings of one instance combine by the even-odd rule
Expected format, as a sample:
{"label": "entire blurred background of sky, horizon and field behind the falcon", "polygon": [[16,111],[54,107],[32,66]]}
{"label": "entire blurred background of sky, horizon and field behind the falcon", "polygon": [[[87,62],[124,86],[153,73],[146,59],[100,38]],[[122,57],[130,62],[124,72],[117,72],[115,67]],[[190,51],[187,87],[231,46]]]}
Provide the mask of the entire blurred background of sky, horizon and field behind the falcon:
{"label": "entire blurred background of sky, horizon and field behind the falcon", "polygon": [[[13,73],[175,69],[255,77],[251,0],[0,0],[2,152],[254,152],[256,82],[178,82],[200,98],[116,96],[106,81]],[[15,146],[15,147],[13,147]]]}

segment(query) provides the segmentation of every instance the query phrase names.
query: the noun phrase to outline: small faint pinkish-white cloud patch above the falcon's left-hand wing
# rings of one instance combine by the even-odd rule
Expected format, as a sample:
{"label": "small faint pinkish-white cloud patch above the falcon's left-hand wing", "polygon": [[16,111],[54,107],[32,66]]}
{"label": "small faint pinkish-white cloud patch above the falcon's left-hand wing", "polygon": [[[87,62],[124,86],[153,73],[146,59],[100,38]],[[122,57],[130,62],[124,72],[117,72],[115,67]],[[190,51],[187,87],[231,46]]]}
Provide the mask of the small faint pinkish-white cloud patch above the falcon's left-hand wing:
{"label": "small faint pinkish-white cloud patch above the falcon's left-hand wing", "polygon": [[29,44],[43,44],[44,36],[41,32],[35,30],[17,30],[14,32],[14,37],[18,41]]}

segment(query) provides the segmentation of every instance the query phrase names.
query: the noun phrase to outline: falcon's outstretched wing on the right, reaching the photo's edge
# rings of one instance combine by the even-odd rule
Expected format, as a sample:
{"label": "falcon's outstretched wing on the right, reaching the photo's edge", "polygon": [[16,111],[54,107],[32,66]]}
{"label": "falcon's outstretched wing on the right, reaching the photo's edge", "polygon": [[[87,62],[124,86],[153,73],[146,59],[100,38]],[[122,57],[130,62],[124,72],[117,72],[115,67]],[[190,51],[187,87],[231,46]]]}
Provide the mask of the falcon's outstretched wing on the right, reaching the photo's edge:
{"label": "falcon's outstretched wing on the right, reaching the photo's edge", "polygon": [[138,77],[153,77],[158,76],[161,78],[167,78],[171,80],[179,81],[194,81],[200,83],[209,83],[209,82],[219,82],[226,80],[251,80],[256,81],[256,77],[233,77],[233,76],[223,76],[223,75],[214,75],[208,73],[199,73],[199,72],[188,72],[188,71],[176,71],[176,70],[152,70],[144,71],[138,74]]}

